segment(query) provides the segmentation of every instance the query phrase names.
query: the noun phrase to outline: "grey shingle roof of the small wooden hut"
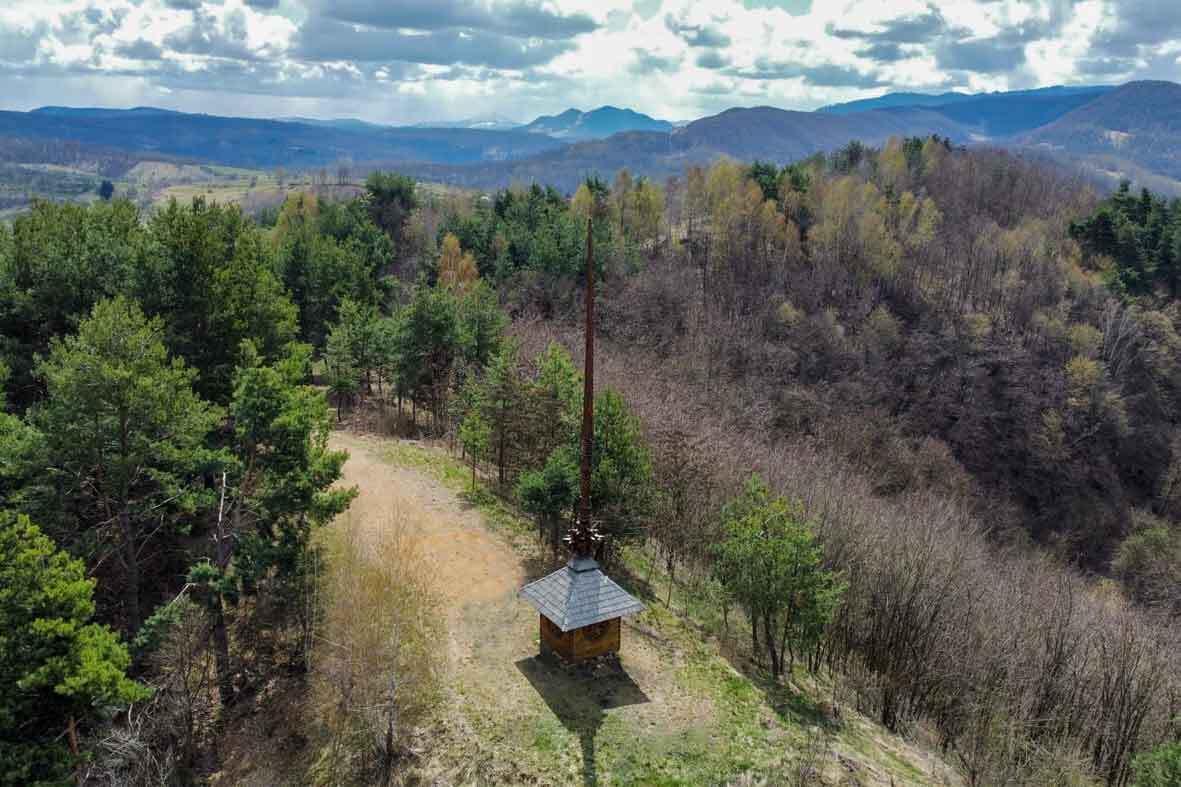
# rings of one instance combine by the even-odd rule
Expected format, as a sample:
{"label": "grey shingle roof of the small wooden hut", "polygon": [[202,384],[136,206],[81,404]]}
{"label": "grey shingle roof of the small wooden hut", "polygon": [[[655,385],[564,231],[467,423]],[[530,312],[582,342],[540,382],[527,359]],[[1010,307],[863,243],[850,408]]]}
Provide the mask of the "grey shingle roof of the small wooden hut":
{"label": "grey shingle roof of the small wooden hut", "polygon": [[631,593],[602,573],[590,558],[568,564],[521,588],[537,611],[562,631],[573,631],[644,610]]}

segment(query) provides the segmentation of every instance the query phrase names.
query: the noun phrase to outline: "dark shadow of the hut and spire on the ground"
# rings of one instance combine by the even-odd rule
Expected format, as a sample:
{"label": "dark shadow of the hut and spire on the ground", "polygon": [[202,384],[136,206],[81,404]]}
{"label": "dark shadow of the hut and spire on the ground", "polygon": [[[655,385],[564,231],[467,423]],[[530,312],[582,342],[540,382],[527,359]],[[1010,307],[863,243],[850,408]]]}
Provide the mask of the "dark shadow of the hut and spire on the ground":
{"label": "dark shadow of the hut and spire on the ground", "polygon": [[541,656],[516,663],[521,675],[541,695],[562,727],[579,736],[582,744],[582,783],[599,783],[594,741],[599,728],[614,708],[651,702],[618,659],[594,666],[569,666]]}

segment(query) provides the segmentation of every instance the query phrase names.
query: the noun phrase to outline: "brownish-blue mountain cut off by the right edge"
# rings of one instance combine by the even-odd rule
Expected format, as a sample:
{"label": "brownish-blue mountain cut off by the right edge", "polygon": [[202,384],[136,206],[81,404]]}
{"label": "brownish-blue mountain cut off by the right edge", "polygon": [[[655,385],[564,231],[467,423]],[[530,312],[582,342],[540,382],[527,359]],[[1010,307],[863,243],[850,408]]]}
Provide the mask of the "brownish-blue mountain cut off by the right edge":
{"label": "brownish-blue mountain cut off by the right edge", "polygon": [[1027,135],[1019,143],[1069,157],[1121,160],[1181,180],[1181,85],[1131,82]]}

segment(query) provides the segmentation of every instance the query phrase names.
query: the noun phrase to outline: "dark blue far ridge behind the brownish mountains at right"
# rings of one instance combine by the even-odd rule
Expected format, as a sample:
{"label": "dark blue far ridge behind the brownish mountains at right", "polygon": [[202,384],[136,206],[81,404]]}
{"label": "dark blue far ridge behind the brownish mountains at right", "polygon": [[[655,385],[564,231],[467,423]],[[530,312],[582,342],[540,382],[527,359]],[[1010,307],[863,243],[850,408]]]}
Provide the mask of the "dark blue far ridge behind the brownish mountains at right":
{"label": "dark blue far ridge behind the brownish mountains at right", "polygon": [[980,137],[1006,137],[1051,123],[1071,110],[1084,106],[1113,87],[1108,85],[1057,86],[1038,90],[1012,90],[993,93],[887,93],[848,104],[834,104],[817,110],[847,115],[855,110],[924,106],[940,112]]}

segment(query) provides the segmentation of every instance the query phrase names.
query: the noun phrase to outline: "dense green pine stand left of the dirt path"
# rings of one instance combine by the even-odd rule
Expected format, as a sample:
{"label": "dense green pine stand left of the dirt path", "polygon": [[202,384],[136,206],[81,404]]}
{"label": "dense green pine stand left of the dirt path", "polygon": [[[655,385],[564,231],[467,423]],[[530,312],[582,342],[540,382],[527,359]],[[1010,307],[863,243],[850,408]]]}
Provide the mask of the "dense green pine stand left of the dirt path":
{"label": "dense green pine stand left of the dirt path", "polygon": [[307,670],[313,533],[353,494],[313,365],[403,293],[415,199],[376,175],[272,228],[200,199],[0,228],[0,783],[187,781],[242,697]]}

